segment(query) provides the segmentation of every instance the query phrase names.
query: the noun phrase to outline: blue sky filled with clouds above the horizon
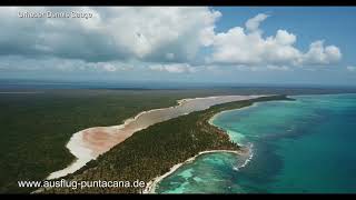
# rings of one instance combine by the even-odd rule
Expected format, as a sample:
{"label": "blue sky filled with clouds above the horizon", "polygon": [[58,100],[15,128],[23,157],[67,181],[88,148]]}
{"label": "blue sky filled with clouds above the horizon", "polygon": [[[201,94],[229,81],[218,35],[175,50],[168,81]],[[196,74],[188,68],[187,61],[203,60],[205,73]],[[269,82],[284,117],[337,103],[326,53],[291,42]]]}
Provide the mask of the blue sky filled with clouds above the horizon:
{"label": "blue sky filled with clouds above the horizon", "polygon": [[6,7],[0,29],[0,79],[356,86],[356,7]]}

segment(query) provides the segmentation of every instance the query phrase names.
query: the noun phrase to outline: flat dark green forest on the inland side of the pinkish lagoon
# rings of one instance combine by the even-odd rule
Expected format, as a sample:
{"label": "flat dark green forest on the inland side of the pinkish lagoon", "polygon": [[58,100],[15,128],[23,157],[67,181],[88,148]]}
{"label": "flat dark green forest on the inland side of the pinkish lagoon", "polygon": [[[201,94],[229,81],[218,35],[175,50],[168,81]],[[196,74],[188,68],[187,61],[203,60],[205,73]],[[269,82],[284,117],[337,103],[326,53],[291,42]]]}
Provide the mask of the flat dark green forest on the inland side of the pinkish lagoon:
{"label": "flat dark green forest on the inland side of the pinkish lagoon", "polygon": [[194,94],[162,90],[1,93],[0,193],[30,192],[33,188],[19,188],[17,181],[43,180],[72,162],[75,158],[66,144],[75,132],[120,124],[142,110],[170,107],[177,99]]}

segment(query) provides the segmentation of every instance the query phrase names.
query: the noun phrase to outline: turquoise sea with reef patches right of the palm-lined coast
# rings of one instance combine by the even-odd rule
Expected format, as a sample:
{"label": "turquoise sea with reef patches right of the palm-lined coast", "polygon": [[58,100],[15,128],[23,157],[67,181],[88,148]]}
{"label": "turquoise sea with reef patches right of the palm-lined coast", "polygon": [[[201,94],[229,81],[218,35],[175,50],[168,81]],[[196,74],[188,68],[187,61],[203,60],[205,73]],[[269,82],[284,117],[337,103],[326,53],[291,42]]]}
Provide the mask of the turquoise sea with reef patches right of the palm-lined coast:
{"label": "turquoise sea with reef patches right of the palm-lined coast", "polygon": [[158,193],[356,192],[356,94],[295,96],[222,112],[211,121],[253,144],[251,160],[198,157],[165,178]]}

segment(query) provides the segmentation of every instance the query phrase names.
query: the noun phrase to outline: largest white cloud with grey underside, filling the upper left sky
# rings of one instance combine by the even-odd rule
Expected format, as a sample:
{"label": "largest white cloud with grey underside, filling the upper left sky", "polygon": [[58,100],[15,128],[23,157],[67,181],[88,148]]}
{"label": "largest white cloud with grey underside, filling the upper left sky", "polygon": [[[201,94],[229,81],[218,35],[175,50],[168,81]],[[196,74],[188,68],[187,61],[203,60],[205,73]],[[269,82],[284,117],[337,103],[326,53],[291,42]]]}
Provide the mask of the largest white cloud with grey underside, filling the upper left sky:
{"label": "largest white cloud with grey underside, filling the upper left sky", "polygon": [[[82,11],[93,18],[20,19],[19,11]],[[187,61],[211,42],[220,16],[206,7],[0,8],[0,54]]]}

